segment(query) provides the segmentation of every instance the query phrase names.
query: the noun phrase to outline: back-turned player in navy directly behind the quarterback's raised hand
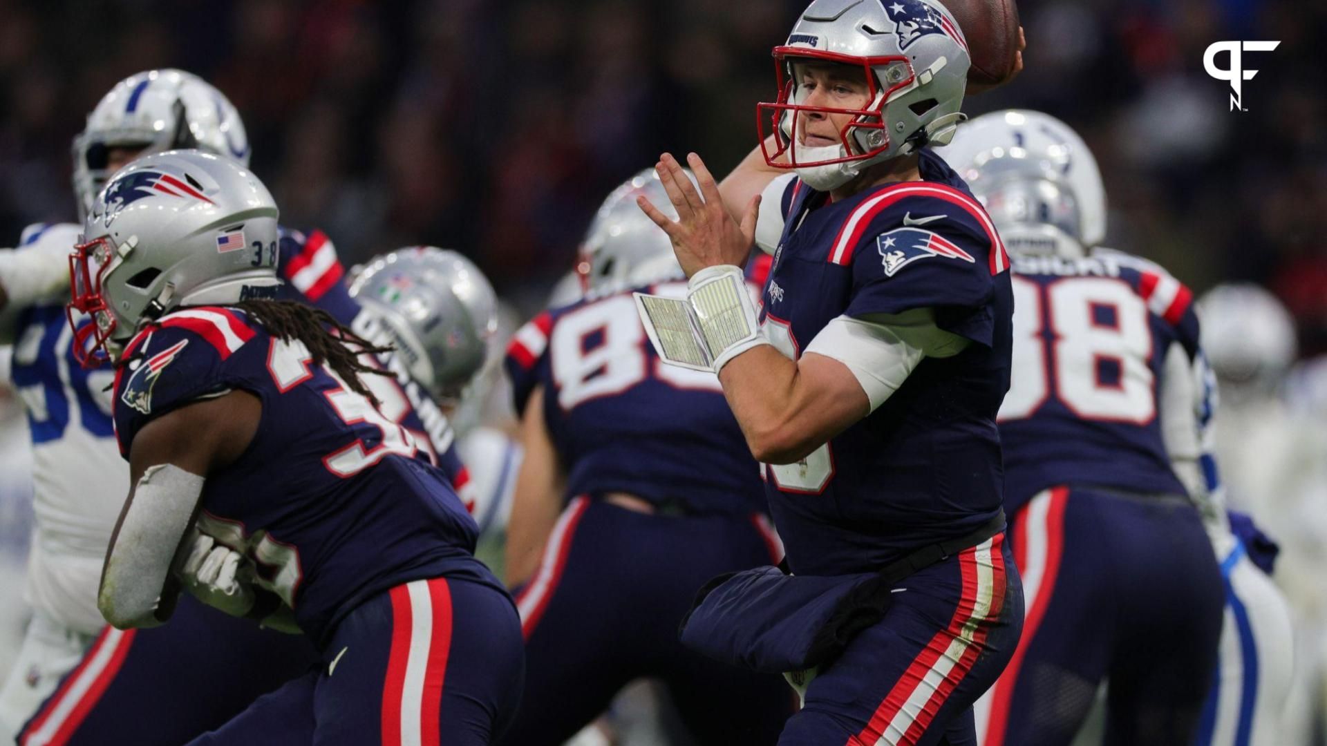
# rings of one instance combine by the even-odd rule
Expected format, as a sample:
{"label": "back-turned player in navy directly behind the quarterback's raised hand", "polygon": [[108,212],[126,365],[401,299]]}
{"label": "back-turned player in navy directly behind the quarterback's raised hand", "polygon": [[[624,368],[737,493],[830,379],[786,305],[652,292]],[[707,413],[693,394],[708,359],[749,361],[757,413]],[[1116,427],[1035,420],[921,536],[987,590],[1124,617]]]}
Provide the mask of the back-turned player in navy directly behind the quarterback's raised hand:
{"label": "back-turned player in navy directly behind the quarterback's raised hand", "polygon": [[697,587],[782,550],[718,380],[664,365],[625,292],[685,292],[641,194],[664,195],[653,171],[591,226],[587,297],[539,315],[508,348],[525,453],[507,538],[527,660],[512,746],[563,743],[645,677],[667,686],[699,743],[774,743],[792,713],[778,676],[677,638]]}

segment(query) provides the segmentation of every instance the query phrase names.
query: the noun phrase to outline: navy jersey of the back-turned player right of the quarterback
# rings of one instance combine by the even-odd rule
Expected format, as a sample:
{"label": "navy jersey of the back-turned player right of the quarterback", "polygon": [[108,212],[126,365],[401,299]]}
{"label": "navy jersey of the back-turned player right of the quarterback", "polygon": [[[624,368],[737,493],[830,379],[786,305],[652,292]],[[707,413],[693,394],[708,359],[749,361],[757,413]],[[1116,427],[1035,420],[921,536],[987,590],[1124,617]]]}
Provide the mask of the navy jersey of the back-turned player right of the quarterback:
{"label": "navy jersey of the back-turned player right of the quarterback", "polygon": [[1014,385],[999,411],[1006,510],[1056,485],[1185,494],[1157,396],[1172,345],[1197,354],[1193,293],[1119,254],[1020,256],[1014,271]]}

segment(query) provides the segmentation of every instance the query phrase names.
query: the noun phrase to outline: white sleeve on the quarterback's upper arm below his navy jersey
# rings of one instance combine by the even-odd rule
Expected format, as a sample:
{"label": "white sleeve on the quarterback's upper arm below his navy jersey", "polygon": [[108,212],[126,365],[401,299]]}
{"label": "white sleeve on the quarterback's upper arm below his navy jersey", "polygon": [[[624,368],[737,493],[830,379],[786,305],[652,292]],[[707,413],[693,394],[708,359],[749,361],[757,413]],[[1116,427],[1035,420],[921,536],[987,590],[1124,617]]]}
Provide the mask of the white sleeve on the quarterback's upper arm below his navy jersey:
{"label": "white sleeve on the quarterback's upper arm below his navy jersey", "polygon": [[936,327],[936,313],[930,308],[914,308],[861,319],[840,316],[820,329],[807,352],[847,365],[874,411],[904,385],[922,358],[955,356],[967,342]]}

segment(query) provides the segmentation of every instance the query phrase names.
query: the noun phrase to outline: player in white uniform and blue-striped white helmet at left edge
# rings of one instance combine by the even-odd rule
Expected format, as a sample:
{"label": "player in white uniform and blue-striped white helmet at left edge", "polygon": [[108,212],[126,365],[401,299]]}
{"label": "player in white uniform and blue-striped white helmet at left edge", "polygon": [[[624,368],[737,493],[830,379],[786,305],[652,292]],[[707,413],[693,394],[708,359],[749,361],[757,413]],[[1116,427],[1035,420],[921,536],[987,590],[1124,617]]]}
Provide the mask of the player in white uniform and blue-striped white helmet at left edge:
{"label": "player in white uniform and blue-striped white helmet at left edge", "polygon": [[[80,219],[119,166],[143,149],[198,146],[247,162],[239,113],[215,88],[179,70],[115,86],[74,138]],[[16,665],[0,690],[0,730],[23,722],[105,627],[97,584],[129,466],[114,446],[111,370],[84,370],[70,352],[69,254],[78,223],[35,224],[0,252],[0,340],[15,345],[13,382],[33,446],[36,531],[24,596],[32,605]]]}

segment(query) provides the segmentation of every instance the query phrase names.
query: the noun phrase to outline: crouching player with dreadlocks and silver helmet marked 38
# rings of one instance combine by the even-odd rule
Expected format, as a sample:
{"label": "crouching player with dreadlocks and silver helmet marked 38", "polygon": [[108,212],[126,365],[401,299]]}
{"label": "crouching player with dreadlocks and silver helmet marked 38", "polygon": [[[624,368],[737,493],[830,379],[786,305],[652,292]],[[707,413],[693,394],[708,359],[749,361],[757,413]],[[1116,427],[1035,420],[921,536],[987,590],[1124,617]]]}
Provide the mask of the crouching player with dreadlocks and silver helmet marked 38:
{"label": "crouching player with dreadlocks and silver helmet marked 38", "polygon": [[[196,194],[142,188],[162,175]],[[263,185],[196,151],[145,157],[85,232],[70,305],[97,323],[76,342],[118,348],[115,430],[134,478],[98,607],[117,628],[153,627],[183,587],[320,650],[320,668],[196,742],[495,738],[522,677],[514,604],[471,555],[475,523],[443,473],[366,385],[389,376],[353,349],[380,348],[269,300]],[[228,572],[199,568],[202,539]]]}

